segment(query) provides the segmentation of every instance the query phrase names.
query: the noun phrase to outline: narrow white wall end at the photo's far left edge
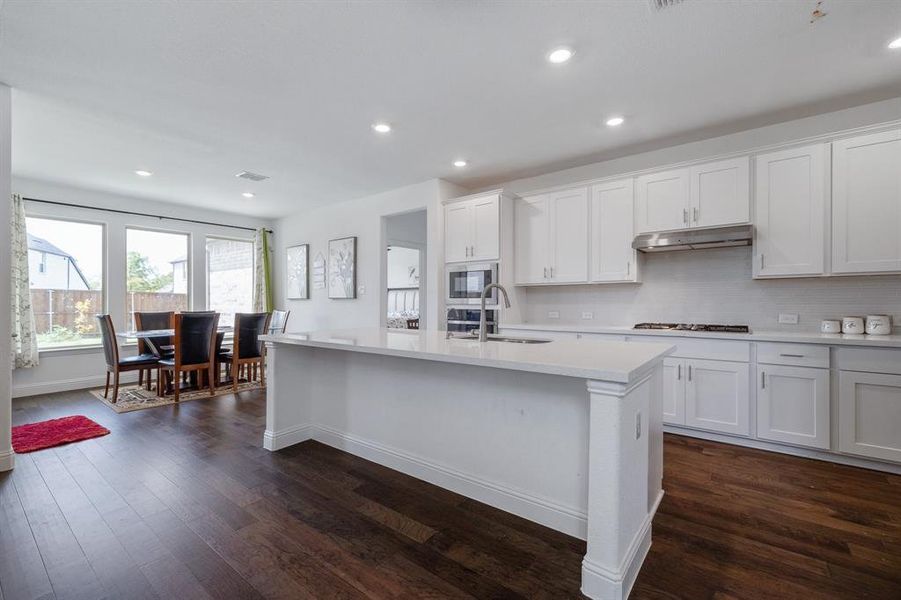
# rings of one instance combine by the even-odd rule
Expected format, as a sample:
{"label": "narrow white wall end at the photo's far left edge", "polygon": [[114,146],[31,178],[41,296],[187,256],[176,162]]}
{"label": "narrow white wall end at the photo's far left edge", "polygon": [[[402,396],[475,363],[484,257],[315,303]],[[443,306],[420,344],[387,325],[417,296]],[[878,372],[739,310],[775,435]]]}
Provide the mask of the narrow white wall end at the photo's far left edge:
{"label": "narrow white wall end at the photo's far left edge", "polygon": [[[10,168],[12,153],[12,129],[10,126],[10,89],[0,84],[0,340],[9,343],[10,340],[10,302],[11,289],[10,249],[9,238],[9,201],[11,194]],[[9,356],[6,354],[9,346],[6,346],[2,356],[9,364]],[[9,367],[0,369],[0,471],[8,471],[13,468],[13,451],[10,440],[12,429],[12,394],[10,389]]]}

